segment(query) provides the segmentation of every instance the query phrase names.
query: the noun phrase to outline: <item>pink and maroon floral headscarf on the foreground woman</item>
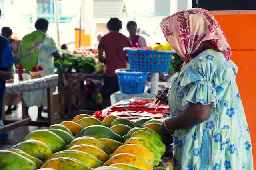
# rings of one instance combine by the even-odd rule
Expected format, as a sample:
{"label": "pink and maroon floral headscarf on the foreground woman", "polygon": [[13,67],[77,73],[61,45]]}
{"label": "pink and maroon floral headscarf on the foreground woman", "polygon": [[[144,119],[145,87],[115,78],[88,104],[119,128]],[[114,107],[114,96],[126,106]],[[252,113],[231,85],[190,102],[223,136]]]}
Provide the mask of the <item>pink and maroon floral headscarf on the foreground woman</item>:
{"label": "pink and maroon floral headscarf on the foreground woman", "polygon": [[183,10],[164,18],[160,27],[168,43],[186,64],[202,41],[210,40],[229,61],[231,48],[214,16],[201,8]]}

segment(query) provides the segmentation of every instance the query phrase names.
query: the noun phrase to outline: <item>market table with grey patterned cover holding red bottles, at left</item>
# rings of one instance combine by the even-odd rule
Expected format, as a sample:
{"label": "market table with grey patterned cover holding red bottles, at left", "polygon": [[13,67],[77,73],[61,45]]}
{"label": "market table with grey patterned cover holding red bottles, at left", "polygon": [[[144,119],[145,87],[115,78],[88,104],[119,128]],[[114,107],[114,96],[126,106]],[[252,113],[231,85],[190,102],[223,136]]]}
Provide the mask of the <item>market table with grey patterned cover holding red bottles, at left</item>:
{"label": "market table with grey patterned cover holding red bottles, at left", "polygon": [[37,126],[50,126],[54,123],[52,111],[52,90],[58,85],[58,74],[45,76],[42,78],[30,79],[26,81],[18,81],[14,79],[14,83],[6,83],[5,95],[22,94],[23,92],[30,92],[34,90],[47,89],[47,103],[48,103],[48,121],[31,121],[30,117],[25,116],[26,107],[22,99],[22,119],[19,121],[5,120],[3,112],[2,120],[7,123],[4,127],[0,128],[0,134],[4,131],[10,131],[24,125],[37,125]]}

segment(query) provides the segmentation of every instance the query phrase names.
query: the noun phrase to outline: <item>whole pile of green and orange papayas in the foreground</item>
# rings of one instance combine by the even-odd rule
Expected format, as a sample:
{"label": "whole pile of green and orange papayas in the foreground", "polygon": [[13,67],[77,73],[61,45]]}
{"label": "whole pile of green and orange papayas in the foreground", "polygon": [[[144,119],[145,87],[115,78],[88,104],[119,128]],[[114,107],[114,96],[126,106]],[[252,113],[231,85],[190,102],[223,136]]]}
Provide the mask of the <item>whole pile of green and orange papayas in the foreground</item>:
{"label": "whole pile of green and orange papayas in the foreground", "polygon": [[80,114],[0,150],[0,170],[153,170],[166,150],[160,128],[155,119]]}

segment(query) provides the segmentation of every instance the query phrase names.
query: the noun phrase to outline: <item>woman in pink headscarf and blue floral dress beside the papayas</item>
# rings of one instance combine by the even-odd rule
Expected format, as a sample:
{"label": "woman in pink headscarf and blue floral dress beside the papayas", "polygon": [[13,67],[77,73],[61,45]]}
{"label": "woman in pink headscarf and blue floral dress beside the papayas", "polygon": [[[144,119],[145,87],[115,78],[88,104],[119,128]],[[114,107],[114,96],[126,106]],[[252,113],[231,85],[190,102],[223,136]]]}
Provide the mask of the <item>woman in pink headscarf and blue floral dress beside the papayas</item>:
{"label": "woman in pink headscarf and blue floral dress beside the papayas", "polygon": [[175,170],[253,170],[252,145],[236,84],[237,66],[220,25],[207,10],[194,8],[164,18],[164,36],[184,60],[170,78],[170,118]]}

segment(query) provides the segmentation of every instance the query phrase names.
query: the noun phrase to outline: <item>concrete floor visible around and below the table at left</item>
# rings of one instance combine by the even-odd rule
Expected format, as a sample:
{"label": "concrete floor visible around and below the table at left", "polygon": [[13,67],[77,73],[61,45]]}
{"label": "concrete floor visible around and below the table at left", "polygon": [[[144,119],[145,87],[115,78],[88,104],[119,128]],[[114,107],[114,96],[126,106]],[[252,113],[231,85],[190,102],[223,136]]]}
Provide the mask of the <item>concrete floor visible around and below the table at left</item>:
{"label": "concrete floor visible around and below the table at left", "polygon": [[[12,111],[11,115],[6,115],[6,119],[11,120],[18,120],[21,118],[22,110],[21,110],[21,104],[18,105],[17,111]],[[6,107],[7,109],[7,107]],[[34,106],[29,109],[29,116],[31,117],[32,121],[36,121],[37,119],[37,113],[38,113],[38,107]],[[48,117],[48,113],[42,113],[43,117]],[[60,119],[60,115],[55,114],[55,123],[60,123],[64,121],[64,119]],[[38,129],[46,129],[47,127],[38,127],[38,126],[22,126],[17,129],[14,129],[12,131],[8,131],[8,139],[4,141],[0,141],[0,150],[8,149],[12,147],[13,145],[16,145],[20,143],[28,133],[38,130]]]}

